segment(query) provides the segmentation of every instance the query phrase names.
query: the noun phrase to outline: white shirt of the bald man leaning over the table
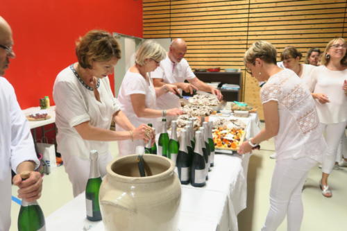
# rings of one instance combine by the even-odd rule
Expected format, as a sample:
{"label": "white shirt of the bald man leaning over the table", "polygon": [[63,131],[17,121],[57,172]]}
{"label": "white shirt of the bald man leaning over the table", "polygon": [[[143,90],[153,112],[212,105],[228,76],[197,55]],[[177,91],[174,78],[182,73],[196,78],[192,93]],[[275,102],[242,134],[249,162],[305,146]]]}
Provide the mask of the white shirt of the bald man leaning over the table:
{"label": "white shirt of the bald man leaning over the table", "polygon": [[[160,66],[150,73],[151,78],[162,78],[164,83],[180,83],[185,80],[196,78],[194,72],[189,67],[187,60],[184,58],[180,62],[171,62],[169,55],[160,61]],[[179,108],[180,101],[178,96],[168,92],[157,98],[157,107],[159,109]]]}

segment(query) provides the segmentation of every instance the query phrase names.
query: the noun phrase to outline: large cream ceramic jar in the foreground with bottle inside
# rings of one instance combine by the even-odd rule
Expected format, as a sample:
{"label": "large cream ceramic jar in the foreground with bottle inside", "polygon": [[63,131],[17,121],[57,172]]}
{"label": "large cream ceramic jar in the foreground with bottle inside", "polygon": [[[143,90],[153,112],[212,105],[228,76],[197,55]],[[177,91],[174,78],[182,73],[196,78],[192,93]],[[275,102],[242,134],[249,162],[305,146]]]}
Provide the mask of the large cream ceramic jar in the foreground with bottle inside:
{"label": "large cream ceramic jar in the foreground with bottle inside", "polygon": [[177,231],[181,187],[174,162],[144,155],[146,176],[139,177],[136,157],[120,157],[107,166],[99,192],[105,229]]}

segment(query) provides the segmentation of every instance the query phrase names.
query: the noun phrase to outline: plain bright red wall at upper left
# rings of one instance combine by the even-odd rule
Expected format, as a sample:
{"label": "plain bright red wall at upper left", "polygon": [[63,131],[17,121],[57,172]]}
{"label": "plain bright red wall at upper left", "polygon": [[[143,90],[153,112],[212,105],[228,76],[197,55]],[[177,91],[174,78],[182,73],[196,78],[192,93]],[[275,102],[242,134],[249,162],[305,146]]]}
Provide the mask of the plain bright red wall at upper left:
{"label": "plain bright red wall at upper left", "polygon": [[[142,37],[141,0],[1,0],[0,15],[13,31],[16,58],[7,78],[21,107],[38,106],[54,80],[76,62],[75,41],[92,29]],[[113,88],[113,76],[110,76]]]}

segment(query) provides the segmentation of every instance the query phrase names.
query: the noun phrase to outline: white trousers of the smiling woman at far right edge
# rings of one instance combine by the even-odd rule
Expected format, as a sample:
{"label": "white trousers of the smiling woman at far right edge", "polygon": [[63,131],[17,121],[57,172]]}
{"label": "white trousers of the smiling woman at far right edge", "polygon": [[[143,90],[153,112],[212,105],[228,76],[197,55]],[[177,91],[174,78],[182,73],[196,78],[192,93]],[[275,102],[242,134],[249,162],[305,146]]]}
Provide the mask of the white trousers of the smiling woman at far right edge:
{"label": "white trousers of the smiling woman at far right edge", "polygon": [[322,171],[323,173],[330,174],[334,168],[335,160],[337,158],[337,147],[344,134],[347,121],[341,123],[323,123],[323,130],[325,132],[325,141],[328,144],[328,149],[323,153]]}

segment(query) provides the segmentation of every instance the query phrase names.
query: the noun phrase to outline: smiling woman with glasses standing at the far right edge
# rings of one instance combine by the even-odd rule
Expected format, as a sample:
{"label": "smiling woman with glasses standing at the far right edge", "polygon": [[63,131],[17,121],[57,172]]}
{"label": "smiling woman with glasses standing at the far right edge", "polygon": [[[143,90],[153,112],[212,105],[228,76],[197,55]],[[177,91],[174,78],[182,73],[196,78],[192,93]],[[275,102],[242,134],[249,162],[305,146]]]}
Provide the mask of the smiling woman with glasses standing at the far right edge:
{"label": "smiling woman with glasses standing at the far right edge", "polygon": [[347,124],[347,44],[339,37],[328,42],[323,52],[322,65],[310,75],[308,85],[316,99],[319,121],[323,123],[328,151],[323,155],[320,187],[325,197],[331,197],[328,177],[337,155],[339,139]]}

